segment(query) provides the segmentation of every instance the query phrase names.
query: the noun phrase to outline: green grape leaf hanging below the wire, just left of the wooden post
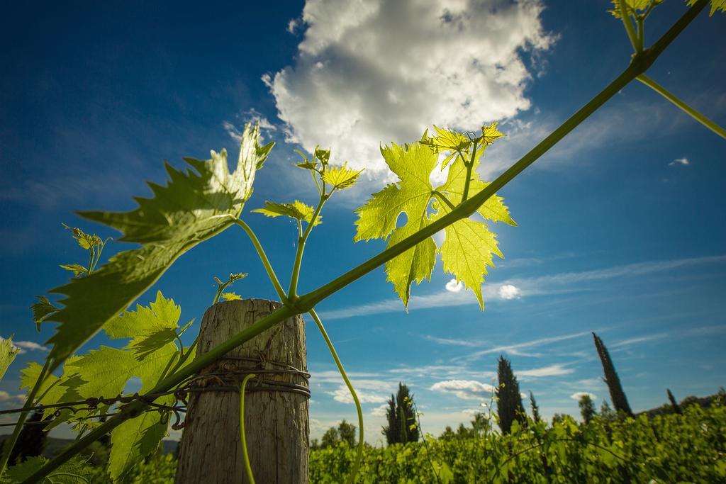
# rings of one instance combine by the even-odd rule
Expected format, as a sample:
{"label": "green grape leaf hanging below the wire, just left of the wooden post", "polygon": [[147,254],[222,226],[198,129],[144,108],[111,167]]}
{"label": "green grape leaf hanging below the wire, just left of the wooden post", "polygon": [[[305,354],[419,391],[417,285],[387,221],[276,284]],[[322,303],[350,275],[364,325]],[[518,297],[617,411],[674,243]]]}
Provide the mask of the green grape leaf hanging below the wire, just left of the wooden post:
{"label": "green grape leaf hanging below the wire, just left of the wooden post", "polygon": [[[171,406],[174,395],[160,397],[156,403]],[[158,411],[147,411],[126,420],[111,432],[107,470],[114,482],[123,481],[136,464],[158,449],[161,440],[168,435],[167,428],[168,412],[162,416]]]}

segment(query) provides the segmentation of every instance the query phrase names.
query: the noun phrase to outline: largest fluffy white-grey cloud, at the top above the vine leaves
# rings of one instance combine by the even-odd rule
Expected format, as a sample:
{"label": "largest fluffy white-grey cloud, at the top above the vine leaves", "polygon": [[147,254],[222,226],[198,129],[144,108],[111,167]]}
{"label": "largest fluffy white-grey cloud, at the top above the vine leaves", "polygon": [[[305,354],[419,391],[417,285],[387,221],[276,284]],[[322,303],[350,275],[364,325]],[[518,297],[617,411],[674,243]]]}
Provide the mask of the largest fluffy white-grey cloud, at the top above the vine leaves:
{"label": "largest fluffy white-grey cloud, at the top above the vine leaves", "polygon": [[[538,0],[308,0],[295,64],[265,75],[288,141],[385,178],[380,143],[475,131],[530,107],[521,53],[548,49]],[[302,26],[302,25],[301,25]],[[295,30],[292,28],[291,30]]]}

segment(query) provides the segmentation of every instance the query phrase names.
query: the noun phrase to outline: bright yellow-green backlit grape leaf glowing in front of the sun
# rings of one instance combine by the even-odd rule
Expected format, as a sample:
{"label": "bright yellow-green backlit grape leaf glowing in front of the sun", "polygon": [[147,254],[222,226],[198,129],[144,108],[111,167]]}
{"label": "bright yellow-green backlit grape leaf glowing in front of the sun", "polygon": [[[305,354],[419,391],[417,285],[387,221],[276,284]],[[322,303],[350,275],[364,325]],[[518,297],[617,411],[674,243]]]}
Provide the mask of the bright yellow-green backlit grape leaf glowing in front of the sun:
{"label": "bright yellow-green backlit grape leaf glowing in front of the sun", "polygon": [[[390,148],[381,149],[384,160],[401,181],[373,194],[366,205],[356,210],[359,214],[356,221],[356,241],[388,239],[388,247],[391,247],[450,213],[453,209],[446,200],[455,206],[463,199],[468,175],[464,160],[470,160],[471,165],[469,195],[473,196],[486,188],[488,184],[479,179],[476,168],[486,145],[504,136],[497,130],[497,124],[482,127],[482,135],[478,139],[481,146],[477,147],[473,160],[471,152],[474,141],[456,131],[436,126],[434,128],[437,136],[433,138],[404,147],[393,144]],[[438,153],[452,149],[459,149],[461,152],[456,152],[457,156],[449,166],[446,182],[435,192],[429,179],[436,166]],[[434,213],[430,214],[429,205],[434,195],[443,195],[446,199],[435,201],[431,205]],[[396,226],[401,213],[406,214],[406,223]],[[478,208],[478,213],[492,221],[516,225],[501,197],[490,197]],[[486,266],[492,266],[493,255],[502,257],[496,237],[489,231],[486,223],[470,218],[454,222],[444,232],[446,238],[439,248],[444,271],[454,274],[457,280],[473,290],[483,308],[481,284],[487,274]],[[436,253],[436,244],[430,237],[386,263],[388,281],[393,283],[393,288],[404,306],[408,305],[413,282],[420,284],[424,279],[431,279]]]}

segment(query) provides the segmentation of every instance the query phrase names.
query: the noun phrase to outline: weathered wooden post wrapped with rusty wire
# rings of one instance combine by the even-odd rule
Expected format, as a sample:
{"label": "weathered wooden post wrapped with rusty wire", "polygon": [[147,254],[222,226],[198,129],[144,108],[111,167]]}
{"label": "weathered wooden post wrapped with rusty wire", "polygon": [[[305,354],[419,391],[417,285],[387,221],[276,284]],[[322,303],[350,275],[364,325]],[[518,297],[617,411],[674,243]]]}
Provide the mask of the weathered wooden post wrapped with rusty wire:
{"label": "weathered wooden post wrapped with rusty wire", "polygon": [[[260,299],[213,305],[202,319],[198,352],[205,353],[280,306]],[[289,369],[284,365],[307,371],[301,316],[261,333],[197,374],[195,386],[205,386],[205,391],[189,394],[177,484],[248,483],[240,441],[240,393],[234,387],[239,390],[240,373],[259,369],[268,371],[258,374],[269,382],[261,384],[268,389],[255,388],[255,380],[250,380],[245,393],[245,433],[255,480],[261,484],[308,482],[309,403],[305,395],[294,391],[294,384],[305,385],[305,379],[272,372]],[[293,392],[274,389],[280,388],[277,385]]]}

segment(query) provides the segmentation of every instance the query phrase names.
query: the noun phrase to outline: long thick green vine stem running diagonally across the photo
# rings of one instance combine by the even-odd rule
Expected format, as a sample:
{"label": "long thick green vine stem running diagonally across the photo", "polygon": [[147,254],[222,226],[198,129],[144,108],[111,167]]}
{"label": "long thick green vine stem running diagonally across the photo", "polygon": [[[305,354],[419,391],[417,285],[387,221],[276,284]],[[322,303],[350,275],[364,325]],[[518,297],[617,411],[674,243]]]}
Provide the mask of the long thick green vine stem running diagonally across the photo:
{"label": "long thick green vine stem running diagonally across the photo", "polygon": [[[406,239],[401,240],[401,242],[398,242],[397,244],[388,247],[386,250],[383,250],[383,252],[375,255],[374,257],[370,258],[368,261],[362,263],[356,268],[351,269],[350,271],[346,272],[346,274],[339,276],[332,282],[325,284],[324,286],[319,287],[317,290],[309,292],[306,295],[303,295],[301,298],[295,301],[294,310],[293,308],[291,308],[292,305],[290,304],[283,305],[282,308],[279,308],[276,311],[270,313],[268,316],[259,319],[252,326],[242,329],[242,331],[237,332],[237,334],[235,335],[232,335],[229,340],[217,345],[208,352],[204,353],[202,356],[195,359],[187,366],[184,366],[183,369],[180,369],[179,372],[175,372],[174,374],[171,374],[168,377],[164,378],[154,388],[152,388],[152,390],[150,390],[150,393],[166,391],[170,388],[175,387],[176,385],[179,385],[188,377],[199,372],[201,369],[205,368],[205,366],[208,366],[208,364],[211,364],[213,363],[213,361],[218,360],[234,348],[237,348],[237,346],[242,345],[242,343],[251,340],[253,337],[256,337],[261,332],[264,332],[267,329],[274,327],[275,324],[278,324],[281,321],[285,321],[285,319],[289,318],[290,316],[310,311],[321,300],[324,300],[334,292],[337,292],[338,290],[346,287],[348,284],[355,281],[356,279],[359,279],[365,274],[368,274],[375,268],[382,266],[384,263],[396,257],[396,255],[404,253],[406,250],[409,250],[418,242],[422,242],[424,239],[428,239],[428,237],[433,236],[433,234],[436,234],[436,232],[444,229],[444,227],[449,226],[460,218],[470,216],[481,204],[486,202],[489,197],[492,197],[494,192],[497,192],[503,186],[512,181],[512,179],[514,179],[515,176],[521,173],[521,171],[537,161],[539,157],[544,155],[544,153],[547,152],[551,147],[553,147],[558,141],[560,141],[560,139],[563,139],[568,133],[574,130],[574,128],[579,126],[582,121],[592,115],[593,112],[597,111],[603,104],[605,104],[605,102],[608,101],[608,99],[611,99],[611,97],[615,96],[621,89],[627,86],[627,84],[635,79],[638,75],[644,73],[645,70],[647,70],[648,67],[650,67],[650,65],[666,49],[666,47],[668,47],[672,43],[672,41],[677,38],[682,30],[686,28],[686,26],[688,26],[688,24],[692,22],[694,18],[696,18],[696,16],[701,12],[701,10],[703,10],[703,8],[706,7],[708,3],[709,0],[697,0],[696,4],[693,4],[693,6],[690,7],[690,9],[688,9],[685,14],[683,14],[682,17],[680,17],[680,19],[677,20],[677,22],[675,22],[674,25],[672,25],[672,27],[669,28],[669,30],[666,31],[666,33],[664,33],[664,35],[658,39],[658,41],[656,41],[655,44],[653,44],[653,46],[651,46],[649,49],[646,49],[641,54],[636,54],[632,58],[630,65],[628,65],[628,67],[620,75],[618,75],[615,80],[608,84],[608,86],[606,86],[603,91],[600,91],[600,93],[592,98],[590,102],[587,102],[587,104],[585,104],[577,112],[575,112],[574,115],[571,115],[571,117],[568,118],[557,129],[555,129],[555,131],[552,131],[552,134],[540,141],[536,147],[532,148],[526,155],[521,157],[518,162],[508,168],[507,171],[499,175],[496,180],[492,181],[492,183],[486,186],[486,188],[483,189],[481,192],[478,192],[469,200],[462,202],[462,204],[459,205],[455,210],[452,210],[452,212],[446,214],[446,216],[439,218],[439,220],[431,223],[431,225],[426,226],[424,229],[421,229],[420,231],[417,231],[415,234],[412,234]],[[242,228],[245,228],[245,226],[247,226],[246,223],[240,222],[242,221],[237,221],[237,219],[235,219],[235,221],[232,221],[231,223],[238,223],[240,226],[242,226]],[[248,232],[248,234],[252,234],[251,230]],[[253,242],[254,240],[256,240],[256,237],[253,239]],[[258,250],[258,254],[259,253],[264,254],[264,252],[261,252],[261,250]],[[274,275],[274,272],[272,272],[272,266],[270,266],[269,269],[270,270],[268,271],[268,275],[271,273]],[[284,295],[284,292],[282,292],[282,294]],[[31,484],[38,482],[38,480],[41,480],[43,477],[48,475],[49,472],[52,472],[60,467],[61,464],[78,454],[78,452],[83,450],[83,448],[86,448],[86,446],[89,446],[95,440],[102,438],[104,435],[115,429],[115,427],[118,427],[123,422],[126,422],[127,419],[134,418],[139,415],[139,413],[147,408],[147,406],[148,405],[146,403],[142,403],[139,401],[135,401],[133,403],[129,403],[128,406],[124,406],[123,409],[119,411],[118,414],[116,414],[114,417],[111,417],[105,423],[99,425],[99,427],[91,430],[91,432],[89,432],[86,437],[78,440],[78,442],[73,443],[72,445],[68,446],[68,448],[61,451],[60,454],[55,456],[41,469],[38,469],[36,472],[33,473],[33,475],[30,475],[30,477],[28,477],[24,481],[24,483]]]}

